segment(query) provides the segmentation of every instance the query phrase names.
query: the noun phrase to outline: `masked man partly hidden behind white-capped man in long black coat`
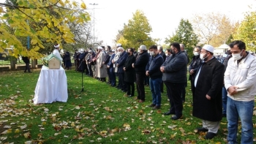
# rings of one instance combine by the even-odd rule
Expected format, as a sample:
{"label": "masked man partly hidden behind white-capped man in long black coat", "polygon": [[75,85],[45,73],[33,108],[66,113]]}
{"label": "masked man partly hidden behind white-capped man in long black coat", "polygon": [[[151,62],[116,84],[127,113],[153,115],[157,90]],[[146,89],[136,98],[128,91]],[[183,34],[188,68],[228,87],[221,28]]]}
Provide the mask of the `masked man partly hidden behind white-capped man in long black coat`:
{"label": "masked man partly hidden behind white-capped man in long black coat", "polygon": [[200,46],[195,46],[193,51],[194,56],[192,57],[191,64],[189,65],[189,80],[191,82],[192,97],[194,97],[194,91],[195,91],[195,86],[194,86],[195,73],[197,72],[198,68],[202,63],[200,58],[201,49],[202,48]]}

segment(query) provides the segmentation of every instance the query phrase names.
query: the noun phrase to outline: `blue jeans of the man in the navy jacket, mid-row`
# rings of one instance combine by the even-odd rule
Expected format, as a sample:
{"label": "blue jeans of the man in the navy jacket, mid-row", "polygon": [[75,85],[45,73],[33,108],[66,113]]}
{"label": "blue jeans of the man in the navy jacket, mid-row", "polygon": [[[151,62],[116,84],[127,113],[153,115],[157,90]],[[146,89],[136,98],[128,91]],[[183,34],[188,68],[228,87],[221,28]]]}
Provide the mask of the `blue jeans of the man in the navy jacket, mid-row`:
{"label": "blue jeans of the man in the navy jacket, mid-row", "polygon": [[157,106],[161,105],[161,83],[162,77],[156,79],[149,78],[149,85],[152,92],[152,103]]}

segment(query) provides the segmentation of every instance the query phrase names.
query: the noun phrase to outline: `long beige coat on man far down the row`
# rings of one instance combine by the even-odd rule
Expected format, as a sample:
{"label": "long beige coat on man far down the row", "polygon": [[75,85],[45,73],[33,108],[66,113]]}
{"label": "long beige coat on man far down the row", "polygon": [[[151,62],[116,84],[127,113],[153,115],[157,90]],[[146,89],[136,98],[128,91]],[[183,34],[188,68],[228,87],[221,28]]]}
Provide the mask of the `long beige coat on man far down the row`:
{"label": "long beige coat on man far down the row", "polygon": [[106,65],[103,64],[102,62],[104,61],[105,58],[105,53],[102,51],[99,53],[99,56],[97,58],[97,77],[103,78],[107,77],[107,69]]}

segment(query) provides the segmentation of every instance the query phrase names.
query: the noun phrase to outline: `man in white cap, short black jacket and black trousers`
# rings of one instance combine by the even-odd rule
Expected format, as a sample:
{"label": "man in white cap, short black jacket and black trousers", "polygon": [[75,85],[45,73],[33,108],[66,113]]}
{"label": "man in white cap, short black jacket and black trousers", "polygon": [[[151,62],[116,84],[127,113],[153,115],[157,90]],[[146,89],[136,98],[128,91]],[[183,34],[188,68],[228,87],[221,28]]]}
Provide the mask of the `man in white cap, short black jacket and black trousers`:
{"label": "man in white cap, short black jacket and black trousers", "polygon": [[146,45],[140,45],[138,52],[139,55],[137,56],[135,63],[132,64],[132,67],[135,68],[136,72],[136,88],[138,92],[137,99],[139,99],[139,102],[144,102],[145,87],[143,82],[146,72],[146,65],[148,64],[149,59]]}

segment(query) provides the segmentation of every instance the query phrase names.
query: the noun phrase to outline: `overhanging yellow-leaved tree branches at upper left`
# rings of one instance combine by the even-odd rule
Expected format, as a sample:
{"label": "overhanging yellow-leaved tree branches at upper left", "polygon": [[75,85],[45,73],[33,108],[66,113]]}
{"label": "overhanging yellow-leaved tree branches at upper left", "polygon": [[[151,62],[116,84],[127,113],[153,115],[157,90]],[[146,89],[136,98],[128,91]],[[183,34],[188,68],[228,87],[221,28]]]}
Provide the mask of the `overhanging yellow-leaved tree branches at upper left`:
{"label": "overhanging yellow-leaved tree branches at upper left", "polygon": [[[79,7],[79,9],[78,9]],[[12,56],[42,58],[45,43],[74,43],[68,23],[83,25],[90,20],[86,4],[62,0],[18,0],[0,3],[0,53],[13,48]],[[24,38],[30,37],[27,48]]]}

